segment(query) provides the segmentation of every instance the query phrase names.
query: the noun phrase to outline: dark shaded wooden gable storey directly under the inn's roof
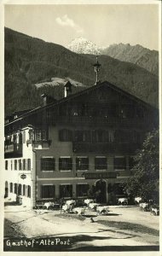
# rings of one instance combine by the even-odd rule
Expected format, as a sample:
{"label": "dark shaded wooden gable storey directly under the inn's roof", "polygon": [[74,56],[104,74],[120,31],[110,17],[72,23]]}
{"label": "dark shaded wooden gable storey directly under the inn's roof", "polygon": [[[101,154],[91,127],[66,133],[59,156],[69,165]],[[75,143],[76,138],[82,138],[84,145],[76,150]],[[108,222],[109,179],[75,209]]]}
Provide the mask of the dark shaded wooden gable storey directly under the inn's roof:
{"label": "dark shaded wooden gable storey directly under the inn's roof", "polygon": [[129,127],[147,131],[159,124],[158,110],[113,84],[103,82],[47,106],[23,113],[5,125],[8,134],[33,125],[96,125]]}

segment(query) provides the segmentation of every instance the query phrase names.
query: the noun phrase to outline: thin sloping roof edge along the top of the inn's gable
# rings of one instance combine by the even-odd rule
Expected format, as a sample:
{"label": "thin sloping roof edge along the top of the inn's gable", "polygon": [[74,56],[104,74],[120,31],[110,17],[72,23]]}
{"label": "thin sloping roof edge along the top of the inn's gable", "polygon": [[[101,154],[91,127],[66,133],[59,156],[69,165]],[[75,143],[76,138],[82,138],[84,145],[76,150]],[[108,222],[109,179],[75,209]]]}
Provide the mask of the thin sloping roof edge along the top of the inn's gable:
{"label": "thin sloping roof edge along the top of the inn's gable", "polygon": [[131,100],[133,100],[134,102],[138,102],[140,104],[142,104],[144,107],[147,107],[147,108],[150,108],[150,109],[156,109],[156,108],[153,108],[153,106],[151,106],[150,104],[148,104],[147,102],[143,102],[141,99],[137,98],[136,96],[133,96],[131,95],[130,93],[126,92],[125,90],[122,90],[120,89],[119,87],[117,87],[116,85],[114,84],[111,84],[107,81],[104,81],[100,84],[97,84],[97,85],[94,85],[94,86],[90,86],[88,89],[85,89],[85,90],[81,90],[81,91],[78,91],[77,93],[75,94],[72,94],[71,96],[67,96],[65,98],[62,98],[61,100],[57,101],[57,102],[51,102],[50,104],[46,105],[46,106],[43,106],[43,107],[38,107],[38,108],[34,108],[22,115],[20,115],[17,119],[14,119],[13,121],[9,122],[8,124],[6,124],[5,126],[9,125],[9,124],[12,124],[20,119],[24,119],[26,118],[27,116],[29,115],[32,115],[34,113],[38,113],[38,112],[41,112],[43,111],[44,109],[48,109],[48,108],[52,108],[52,107],[55,107],[55,106],[58,106],[58,105],[61,105],[62,103],[64,102],[68,102],[68,101],[71,101],[73,99],[76,99],[77,97],[79,96],[83,96],[84,94],[88,94],[90,93],[91,91],[94,91],[94,90],[98,90],[98,89],[101,89],[101,87],[103,86],[107,86],[108,88],[112,89],[112,90],[115,90],[117,91],[118,93],[126,96],[126,97],[129,97]]}

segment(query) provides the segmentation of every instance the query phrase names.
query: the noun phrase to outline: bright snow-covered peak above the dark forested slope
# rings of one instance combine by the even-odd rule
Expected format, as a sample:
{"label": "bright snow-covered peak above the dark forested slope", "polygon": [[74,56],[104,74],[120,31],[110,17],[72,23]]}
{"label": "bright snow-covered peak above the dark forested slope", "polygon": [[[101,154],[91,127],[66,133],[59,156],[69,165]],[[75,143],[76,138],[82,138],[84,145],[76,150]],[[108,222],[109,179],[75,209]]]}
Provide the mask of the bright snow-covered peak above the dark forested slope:
{"label": "bright snow-covered peak above the dark forested slope", "polygon": [[78,54],[100,55],[103,48],[98,47],[96,44],[85,38],[75,38],[67,45],[67,49]]}

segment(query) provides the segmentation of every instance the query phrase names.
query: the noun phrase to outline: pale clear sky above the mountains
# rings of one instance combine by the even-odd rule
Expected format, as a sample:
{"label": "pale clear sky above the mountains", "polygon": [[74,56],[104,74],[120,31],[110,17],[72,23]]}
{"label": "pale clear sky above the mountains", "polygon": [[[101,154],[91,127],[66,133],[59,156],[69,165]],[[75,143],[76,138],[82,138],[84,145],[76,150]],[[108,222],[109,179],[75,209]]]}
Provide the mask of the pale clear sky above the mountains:
{"label": "pale clear sky above the mountains", "polygon": [[4,26],[65,47],[81,37],[159,49],[158,4],[6,4]]}

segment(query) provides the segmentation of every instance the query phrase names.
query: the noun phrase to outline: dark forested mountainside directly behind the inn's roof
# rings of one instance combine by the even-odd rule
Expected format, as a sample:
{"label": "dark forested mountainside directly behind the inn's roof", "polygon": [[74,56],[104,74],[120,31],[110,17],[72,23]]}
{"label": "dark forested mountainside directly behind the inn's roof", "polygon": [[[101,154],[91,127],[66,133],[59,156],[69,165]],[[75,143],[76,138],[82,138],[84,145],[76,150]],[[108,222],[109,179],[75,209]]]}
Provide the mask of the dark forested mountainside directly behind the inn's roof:
{"label": "dark forested mountainside directly behind the inn's roof", "polygon": [[[155,75],[107,55],[101,55],[99,61],[101,81],[107,80],[158,106],[158,78]],[[40,91],[34,84],[42,80],[68,77],[87,86],[94,85],[94,62],[94,55],[78,55],[61,45],[5,28],[5,113],[38,107],[43,87]],[[52,86],[44,90],[56,98],[62,95],[60,86],[59,93]]]}

